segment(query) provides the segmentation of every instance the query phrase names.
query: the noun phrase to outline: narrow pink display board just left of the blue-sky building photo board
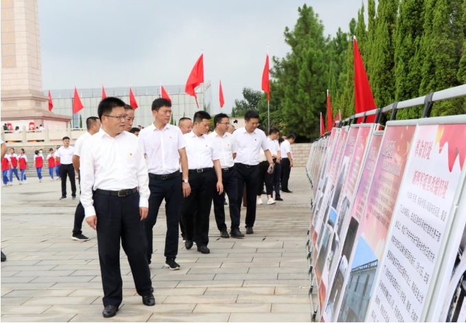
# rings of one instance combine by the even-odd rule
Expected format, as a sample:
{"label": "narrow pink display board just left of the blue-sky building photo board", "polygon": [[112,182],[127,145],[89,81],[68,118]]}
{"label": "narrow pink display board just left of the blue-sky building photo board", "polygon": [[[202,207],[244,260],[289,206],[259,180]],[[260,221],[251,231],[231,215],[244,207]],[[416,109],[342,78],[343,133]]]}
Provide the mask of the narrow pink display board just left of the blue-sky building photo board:
{"label": "narrow pink display board just left of the blue-sky building photo board", "polygon": [[340,309],[341,298],[343,291],[348,281],[348,264],[351,262],[353,252],[355,249],[355,240],[359,229],[359,222],[362,218],[366,198],[370,188],[370,182],[373,178],[375,165],[377,163],[377,156],[379,153],[379,147],[382,140],[382,134],[373,134],[370,138],[370,145],[368,147],[368,154],[364,160],[363,171],[357,192],[355,195],[355,204],[351,208],[351,220],[348,225],[348,231],[346,233],[346,239],[344,241],[342,254],[339,259],[338,271],[334,275],[333,284],[329,295],[328,304],[325,311],[322,313],[322,317],[326,321],[335,321],[337,319],[336,314]]}

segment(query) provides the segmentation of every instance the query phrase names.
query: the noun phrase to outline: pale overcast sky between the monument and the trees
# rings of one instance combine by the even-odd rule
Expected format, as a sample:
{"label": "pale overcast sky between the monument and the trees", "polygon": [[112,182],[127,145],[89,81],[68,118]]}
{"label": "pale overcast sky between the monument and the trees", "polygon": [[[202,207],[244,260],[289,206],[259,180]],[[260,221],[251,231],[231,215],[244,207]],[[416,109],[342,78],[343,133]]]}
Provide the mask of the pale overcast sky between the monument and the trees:
{"label": "pale overcast sky between the monument and the trees", "polygon": [[[364,1],[366,2],[366,1]],[[348,30],[362,0],[307,2],[325,34]],[[204,50],[204,78],[219,80],[229,113],[243,87],[260,90],[267,43],[285,56],[285,26],[293,28],[303,1],[38,0],[45,90],[184,85]],[[273,95],[273,94],[272,94]]]}

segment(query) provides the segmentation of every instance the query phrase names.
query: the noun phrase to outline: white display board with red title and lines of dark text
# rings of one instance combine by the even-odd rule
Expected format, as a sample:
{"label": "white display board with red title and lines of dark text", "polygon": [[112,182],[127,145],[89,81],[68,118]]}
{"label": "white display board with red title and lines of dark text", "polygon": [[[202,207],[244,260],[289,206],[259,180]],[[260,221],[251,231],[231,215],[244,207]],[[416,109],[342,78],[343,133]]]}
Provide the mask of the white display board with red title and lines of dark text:
{"label": "white display board with red title and lines of dark text", "polygon": [[[441,120],[445,118],[424,122]],[[445,230],[464,163],[461,159],[466,156],[465,138],[464,124],[419,121],[392,213],[383,270],[375,282],[371,320],[422,320],[430,284],[436,279],[436,263],[443,254],[441,244],[447,238]],[[458,272],[453,283],[460,302],[463,272]],[[462,313],[461,308],[456,306],[452,317],[455,313]]]}

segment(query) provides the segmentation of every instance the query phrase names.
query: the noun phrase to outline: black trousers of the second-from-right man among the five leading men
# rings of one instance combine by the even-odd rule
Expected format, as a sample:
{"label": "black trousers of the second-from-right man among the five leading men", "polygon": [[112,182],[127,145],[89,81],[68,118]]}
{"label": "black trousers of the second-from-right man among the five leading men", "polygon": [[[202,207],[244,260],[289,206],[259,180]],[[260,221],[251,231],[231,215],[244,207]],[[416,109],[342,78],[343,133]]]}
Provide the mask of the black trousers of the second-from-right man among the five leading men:
{"label": "black trousers of the second-from-right man among the five leading men", "polygon": [[214,189],[214,214],[215,222],[219,231],[227,229],[225,225],[225,193],[228,195],[230,203],[230,219],[232,220],[231,230],[239,229],[239,209],[238,203],[238,178],[236,169],[232,168],[230,171],[222,171],[223,193],[219,195],[217,189]]}

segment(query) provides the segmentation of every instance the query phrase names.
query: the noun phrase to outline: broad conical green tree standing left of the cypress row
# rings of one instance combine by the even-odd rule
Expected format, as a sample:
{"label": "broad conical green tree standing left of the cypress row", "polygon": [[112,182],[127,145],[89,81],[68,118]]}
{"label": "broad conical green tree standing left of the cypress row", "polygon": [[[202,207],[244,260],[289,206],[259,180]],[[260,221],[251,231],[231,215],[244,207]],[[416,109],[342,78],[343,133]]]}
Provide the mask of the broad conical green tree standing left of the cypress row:
{"label": "broad conical green tree standing left of the cypress row", "polygon": [[311,7],[298,8],[299,18],[285,42],[291,53],[282,60],[285,83],[282,116],[299,136],[318,136],[320,112],[325,110],[328,67],[324,53],[324,26]]}

